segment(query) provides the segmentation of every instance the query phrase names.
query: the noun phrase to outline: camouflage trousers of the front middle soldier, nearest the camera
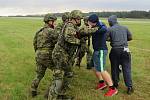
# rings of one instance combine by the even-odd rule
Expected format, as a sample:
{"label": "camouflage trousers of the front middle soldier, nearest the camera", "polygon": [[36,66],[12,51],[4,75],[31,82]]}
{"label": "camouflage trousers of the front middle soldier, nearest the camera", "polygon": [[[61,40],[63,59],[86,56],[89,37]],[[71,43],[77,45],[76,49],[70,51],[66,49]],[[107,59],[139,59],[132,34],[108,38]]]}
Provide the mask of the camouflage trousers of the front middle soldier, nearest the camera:
{"label": "camouflage trousers of the front middle soldier, nearest the camera", "polygon": [[73,77],[70,56],[62,47],[55,46],[52,58],[56,68],[54,69],[48,100],[56,100],[58,95],[66,95]]}

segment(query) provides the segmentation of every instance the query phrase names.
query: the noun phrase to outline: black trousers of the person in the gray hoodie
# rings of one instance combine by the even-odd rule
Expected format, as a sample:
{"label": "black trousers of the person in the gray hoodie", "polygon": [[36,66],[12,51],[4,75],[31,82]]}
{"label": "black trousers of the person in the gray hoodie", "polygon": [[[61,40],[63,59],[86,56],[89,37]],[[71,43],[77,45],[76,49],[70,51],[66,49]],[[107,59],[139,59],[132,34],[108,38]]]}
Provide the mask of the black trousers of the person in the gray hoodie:
{"label": "black trousers of the person in the gray hoodie", "polygon": [[111,76],[115,87],[119,82],[119,65],[122,66],[124,82],[127,87],[132,87],[131,79],[131,54],[123,51],[124,48],[112,48],[109,54],[111,62]]}

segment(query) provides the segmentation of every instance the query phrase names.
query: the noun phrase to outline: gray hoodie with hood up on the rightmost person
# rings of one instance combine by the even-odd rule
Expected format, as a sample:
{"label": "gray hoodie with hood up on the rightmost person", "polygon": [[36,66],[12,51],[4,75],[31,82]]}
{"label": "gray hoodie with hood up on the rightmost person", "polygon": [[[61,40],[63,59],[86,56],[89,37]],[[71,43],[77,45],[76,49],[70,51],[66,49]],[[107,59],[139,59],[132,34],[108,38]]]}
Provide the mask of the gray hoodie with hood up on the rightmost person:
{"label": "gray hoodie with hood up on the rightmost person", "polygon": [[110,41],[112,48],[128,47],[128,41],[132,40],[128,28],[118,24],[116,15],[110,16],[108,22],[110,27],[107,31],[107,40]]}

